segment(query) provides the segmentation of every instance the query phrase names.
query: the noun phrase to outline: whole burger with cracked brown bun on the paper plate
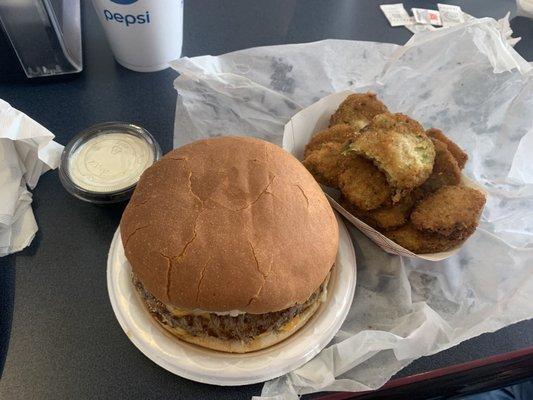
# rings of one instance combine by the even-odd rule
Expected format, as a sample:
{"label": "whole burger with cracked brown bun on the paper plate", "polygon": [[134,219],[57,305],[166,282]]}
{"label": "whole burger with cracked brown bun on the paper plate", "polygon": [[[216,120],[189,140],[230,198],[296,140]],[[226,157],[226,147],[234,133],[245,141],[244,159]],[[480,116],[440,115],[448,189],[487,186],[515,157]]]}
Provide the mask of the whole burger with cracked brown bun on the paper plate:
{"label": "whole burger with cracked brown bun on the paper plate", "polygon": [[312,317],[339,240],[302,164],[248,137],[166,154],[141,176],[120,233],[155,320],[184,341],[234,353],[278,343]]}

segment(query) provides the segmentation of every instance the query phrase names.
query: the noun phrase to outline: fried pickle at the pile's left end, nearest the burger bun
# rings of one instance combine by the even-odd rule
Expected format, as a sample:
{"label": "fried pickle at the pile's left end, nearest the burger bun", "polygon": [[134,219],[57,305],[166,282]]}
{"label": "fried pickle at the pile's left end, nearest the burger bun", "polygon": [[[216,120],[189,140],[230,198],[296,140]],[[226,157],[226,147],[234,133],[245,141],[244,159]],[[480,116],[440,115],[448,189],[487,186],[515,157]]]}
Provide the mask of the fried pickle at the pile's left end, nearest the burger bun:
{"label": "fried pickle at the pile's left end, nearest the burger bun", "polygon": [[342,146],[341,143],[327,142],[308,152],[303,165],[317,182],[326,186],[338,187],[338,178],[344,171],[344,161],[347,158],[341,153]]}

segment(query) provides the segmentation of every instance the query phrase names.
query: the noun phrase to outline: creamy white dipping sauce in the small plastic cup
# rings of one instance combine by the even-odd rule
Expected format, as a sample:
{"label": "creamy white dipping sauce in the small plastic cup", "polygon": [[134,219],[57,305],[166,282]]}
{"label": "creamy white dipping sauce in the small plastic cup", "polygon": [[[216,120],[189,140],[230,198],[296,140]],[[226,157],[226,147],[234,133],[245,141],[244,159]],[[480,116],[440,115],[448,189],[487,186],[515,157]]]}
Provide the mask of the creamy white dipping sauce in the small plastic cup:
{"label": "creamy white dipping sauce in the small plastic cup", "polygon": [[90,138],[68,160],[70,179],[93,192],[125,189],[154,162],[153,150],[136,136],[112,132]]}

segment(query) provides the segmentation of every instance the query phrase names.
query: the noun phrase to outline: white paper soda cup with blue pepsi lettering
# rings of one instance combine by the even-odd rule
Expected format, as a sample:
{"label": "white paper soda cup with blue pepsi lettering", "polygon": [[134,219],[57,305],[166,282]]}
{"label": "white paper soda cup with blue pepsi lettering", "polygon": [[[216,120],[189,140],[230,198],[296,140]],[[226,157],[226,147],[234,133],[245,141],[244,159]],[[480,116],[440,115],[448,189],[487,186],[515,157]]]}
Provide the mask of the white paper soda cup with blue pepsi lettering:
{"label": "white paper soda cup with blue pepsi lettering", "polygon": [[160,71],[181,56],[183,0],[93,0],[117,62]]}

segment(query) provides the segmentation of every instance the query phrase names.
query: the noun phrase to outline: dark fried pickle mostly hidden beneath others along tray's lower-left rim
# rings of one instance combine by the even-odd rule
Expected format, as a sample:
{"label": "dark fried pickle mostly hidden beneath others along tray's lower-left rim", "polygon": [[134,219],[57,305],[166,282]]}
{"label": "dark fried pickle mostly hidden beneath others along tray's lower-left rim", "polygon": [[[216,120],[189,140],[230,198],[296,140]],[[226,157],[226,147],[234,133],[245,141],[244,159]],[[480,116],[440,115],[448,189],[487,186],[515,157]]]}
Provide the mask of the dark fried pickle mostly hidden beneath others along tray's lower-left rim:
{"label": "dark fried pickle mostly hidden beneath others along tray's lower-left rim", "polygon": [[415,204],[415,199],[411,195],[408,195],[392,206],[381,206],[370,211],[362,210],[351,204],[344,196],[339,199],[339,203],[353,216],[371,227],[390,230],[402,226],[407,222]]}

